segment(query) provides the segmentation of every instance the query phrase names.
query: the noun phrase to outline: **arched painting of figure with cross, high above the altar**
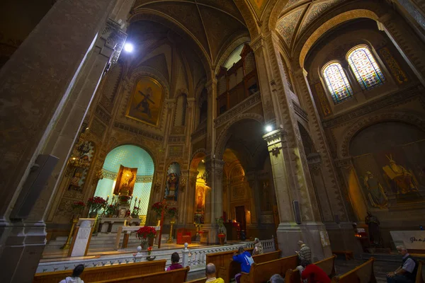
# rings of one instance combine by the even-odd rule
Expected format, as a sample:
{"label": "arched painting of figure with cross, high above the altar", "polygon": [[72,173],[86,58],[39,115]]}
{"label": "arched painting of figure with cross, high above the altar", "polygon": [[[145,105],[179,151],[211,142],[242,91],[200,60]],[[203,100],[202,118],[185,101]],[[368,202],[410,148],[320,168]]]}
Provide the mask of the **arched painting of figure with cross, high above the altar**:
{"label": "arched painting of figure with cross, high above the altar", "polygon": [[157,126],[164,100],[164,90],[158,81],[143,77],[137,81],[130,96],[125,115]]}

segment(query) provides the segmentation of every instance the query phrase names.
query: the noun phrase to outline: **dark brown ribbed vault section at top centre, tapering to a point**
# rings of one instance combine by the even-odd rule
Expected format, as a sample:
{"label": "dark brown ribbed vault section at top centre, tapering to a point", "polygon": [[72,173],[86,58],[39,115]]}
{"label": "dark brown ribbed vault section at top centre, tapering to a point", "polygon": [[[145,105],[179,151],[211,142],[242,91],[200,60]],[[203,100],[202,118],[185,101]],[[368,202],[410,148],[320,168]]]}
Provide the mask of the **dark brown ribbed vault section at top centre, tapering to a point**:
{"label": "dark brown ribbed vault section at top centre, tapering to a point", "polygon": [[211,65],[229,44],[249,36],[244,18],[232,0],[136,0],[133,14],[164,18],[189,35]]}

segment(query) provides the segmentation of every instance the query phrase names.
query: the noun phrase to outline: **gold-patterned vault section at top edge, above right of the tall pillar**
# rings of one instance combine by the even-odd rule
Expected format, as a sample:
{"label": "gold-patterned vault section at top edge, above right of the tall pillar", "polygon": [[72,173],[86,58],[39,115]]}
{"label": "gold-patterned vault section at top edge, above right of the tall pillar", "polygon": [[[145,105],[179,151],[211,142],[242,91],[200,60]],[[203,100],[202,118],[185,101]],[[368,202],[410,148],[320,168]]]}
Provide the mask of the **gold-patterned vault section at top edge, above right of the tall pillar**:
{"label": "gold-patterned vault section at top edge, above right of the tall pillar", "polygon": [[317,19],[346,0],[289,0],[279,16],[276,30],[290,50]]}

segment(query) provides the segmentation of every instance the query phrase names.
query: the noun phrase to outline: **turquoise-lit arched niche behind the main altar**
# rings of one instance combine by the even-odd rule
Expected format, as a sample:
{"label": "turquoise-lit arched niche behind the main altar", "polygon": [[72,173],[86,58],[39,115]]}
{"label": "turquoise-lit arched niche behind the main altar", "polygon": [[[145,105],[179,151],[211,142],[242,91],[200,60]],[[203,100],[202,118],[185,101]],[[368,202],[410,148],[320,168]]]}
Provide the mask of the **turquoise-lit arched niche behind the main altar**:
{"label": "turquoise-lit arched niche behind the main altar", "polygon": [[117,185],[118,176],[125,170],[123,168],[130,168],[132,173],[135,173],[135,180],[130,182],[128,194],[132,197],[130,209],[138,207],[139,214],[146,215],[152,189],[154,161],[149,153],[139,146],[118,146],[108,153],[102,168],[103,179],[99,180],[94,196],[108,199],[108,204],[112,204],[113,195],[120,194],[123,187]]}

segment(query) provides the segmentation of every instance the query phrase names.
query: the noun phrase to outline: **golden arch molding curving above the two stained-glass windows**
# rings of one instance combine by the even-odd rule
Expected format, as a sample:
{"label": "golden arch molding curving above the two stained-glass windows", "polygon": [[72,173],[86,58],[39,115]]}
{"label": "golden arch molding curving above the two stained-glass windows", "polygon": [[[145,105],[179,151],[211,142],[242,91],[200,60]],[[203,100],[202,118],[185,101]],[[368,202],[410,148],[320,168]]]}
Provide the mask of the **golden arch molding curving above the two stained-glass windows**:
{"label": "golden arch molding curving above the two stained-glass windows", "polygon": [[[347,4],[346,6],[332,11],[329,16],[333,17],[329,20],[326,20],[329,16],[324,17],[317,25],[310,27],[307,33],[300,37],[300,40],[297,40],[294,45],[294,58],[299,58],[300,67],[304,67],[305,57],[307,57],[307,53],[314,43],[317,42],[322,35],[327,33],[328,30],[334,28],[336,25],[356,18],[370,18],[373,21],[378,21],[378,19],[384,15],[385,11],[387,11],[386,9],[382,9],[382,3],[380,5],[381,6],[375,1]],[[358,6],[362,6],[362,9],[358,9]]]}

